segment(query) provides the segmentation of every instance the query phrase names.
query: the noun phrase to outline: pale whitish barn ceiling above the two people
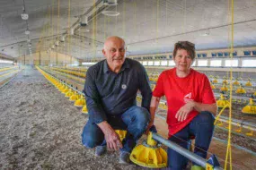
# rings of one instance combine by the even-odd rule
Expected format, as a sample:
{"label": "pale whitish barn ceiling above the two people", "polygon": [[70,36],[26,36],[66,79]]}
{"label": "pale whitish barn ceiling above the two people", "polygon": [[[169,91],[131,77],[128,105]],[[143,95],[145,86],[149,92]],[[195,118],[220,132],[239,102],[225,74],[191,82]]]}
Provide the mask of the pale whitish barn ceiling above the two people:
{"label": "pale whitish barn ceiling above the two people", "polygon": [[[23,0],[0,0],[0,53],[13,57],[29,54],[28,36],[24,33],[27,25],[31,30],[32,53],[48,50],[61,34],[66,33],[68,25],[78,20],[77,16],[92,11],[96,0],[70,0],[70,17],[69,0],[59,2],[58,19],[58,0],[24,0],[25,12],[29,13],[27,24],[21,18]],[[170,52],[179,40],[190,40],[197,49],[229,47],[231,4],[228,2],[119,0],[117,6],[95,8],[106,7],[106,10],[119,12],[119,16],[97,13],[95,24],[89,21],[86,27],[75,30],[75,35],[67,36],[65,43],[54,50],[84,60],[99,57],[104,39],[111,35],[125,39],[128,55]],[[256,0],[234,0],[235,47],[256,46],[255,7]],[[202,36],[206,31],[209,35]]]}

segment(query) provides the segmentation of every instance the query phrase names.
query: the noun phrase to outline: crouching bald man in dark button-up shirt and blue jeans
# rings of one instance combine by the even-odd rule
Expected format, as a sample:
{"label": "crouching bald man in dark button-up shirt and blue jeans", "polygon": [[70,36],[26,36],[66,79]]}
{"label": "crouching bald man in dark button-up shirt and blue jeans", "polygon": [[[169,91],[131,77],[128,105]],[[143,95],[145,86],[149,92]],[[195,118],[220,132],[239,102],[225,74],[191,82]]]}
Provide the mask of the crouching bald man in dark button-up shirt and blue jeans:
{"label": "crouching bald man in dark button-up shirt and blue jeans", "polygon": [[[96,156],[108,149],[119,150],[119,163],[129,163],[129,154],[146,131],[150,120],[152,91],[145,68],[125,57],[125,42],[119,37],[107,38],[102,50],[106,60],[91,66],[86,73],[84,93],[89,121],[84,126],[82,142],[94,148]],[[137,106],[137,90],[142,106]],[[127,130],[121,142],[116,129]]]}

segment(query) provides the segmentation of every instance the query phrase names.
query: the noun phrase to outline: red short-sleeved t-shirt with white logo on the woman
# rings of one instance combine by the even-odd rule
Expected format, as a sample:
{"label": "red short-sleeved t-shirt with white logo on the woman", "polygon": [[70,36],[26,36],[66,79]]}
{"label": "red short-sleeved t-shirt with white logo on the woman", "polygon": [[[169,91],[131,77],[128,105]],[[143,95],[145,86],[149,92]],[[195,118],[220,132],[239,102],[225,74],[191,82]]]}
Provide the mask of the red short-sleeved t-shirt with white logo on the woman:
{"label": "red short-sleeved t-shirt with white logo on the woman", "polygon": [[181,131],[181,129],[199,114],[199,112],[194,109],[190,112],[186,120],[178,122],[175,115],[181,106],[186,104],[185,100],[194,100],[203,104],[216,103],[207,76],[193,69],[191,69],[190,74],[184,78],[180,78],[176,75],[176,68],[163,71],[158,78],[153,96],[157,98],[165,96],[167,100],[168,111],[166,123],[169,126],[169,137]]}

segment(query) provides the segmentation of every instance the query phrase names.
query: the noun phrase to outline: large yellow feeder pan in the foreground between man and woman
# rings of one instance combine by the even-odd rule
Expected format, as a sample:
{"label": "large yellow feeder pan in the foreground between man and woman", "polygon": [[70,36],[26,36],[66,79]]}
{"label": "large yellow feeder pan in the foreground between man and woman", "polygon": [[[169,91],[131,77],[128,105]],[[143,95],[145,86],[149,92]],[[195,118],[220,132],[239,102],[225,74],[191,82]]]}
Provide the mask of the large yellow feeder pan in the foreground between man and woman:
{"label": "large yellow feeder pan in the foreground between man and woman", "polygon": [[149,168],[163,168],[167,166],[167,153],[156,145],[156,141],[152,139],[152,132],[149,132],[147,141],[132,150],[129,158],[138,166]]}

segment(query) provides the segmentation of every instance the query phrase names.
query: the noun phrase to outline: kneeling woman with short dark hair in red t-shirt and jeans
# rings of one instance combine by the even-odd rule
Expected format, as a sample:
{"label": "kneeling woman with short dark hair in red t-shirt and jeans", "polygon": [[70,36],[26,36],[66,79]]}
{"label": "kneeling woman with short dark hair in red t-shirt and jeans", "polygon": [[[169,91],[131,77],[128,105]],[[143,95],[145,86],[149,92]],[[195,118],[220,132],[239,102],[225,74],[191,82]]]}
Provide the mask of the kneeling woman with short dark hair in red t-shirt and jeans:
{"label": "kneeling woman with short dark hair in red t-shirt and jeans", "polygon": [[[162,72],[156,83],[151,100],[151,122],[154,124],[155,110],[160,98],[165,96],[168,105],[167,120],[169,140],[189,149],[190,140],[195,138],[194,153],[207,157],[207,149],[214,131],[216,100],[207,76],[191,69],[195,60],[195,45],[179,41],[173,50],[175,68]],[[185,169],[188,159],[168,149],[168,167],[172,170]],[[192,169],[203,169],[193,164]]]}

